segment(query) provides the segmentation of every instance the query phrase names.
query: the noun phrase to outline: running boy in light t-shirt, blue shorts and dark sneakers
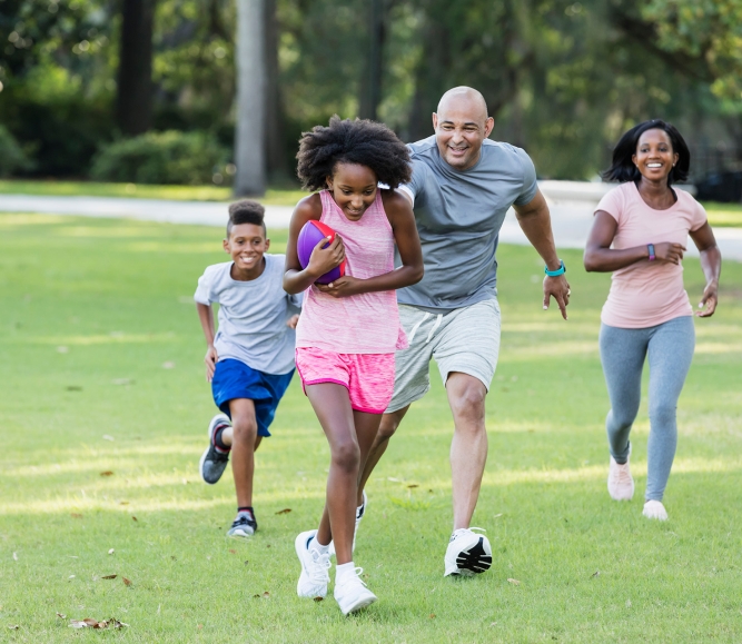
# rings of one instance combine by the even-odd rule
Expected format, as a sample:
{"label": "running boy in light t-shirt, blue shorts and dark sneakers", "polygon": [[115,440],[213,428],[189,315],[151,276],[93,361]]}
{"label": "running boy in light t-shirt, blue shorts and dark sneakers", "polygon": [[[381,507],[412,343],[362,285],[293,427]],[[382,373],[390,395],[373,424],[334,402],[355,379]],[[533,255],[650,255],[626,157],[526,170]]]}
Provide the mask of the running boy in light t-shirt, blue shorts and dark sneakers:
{"label": "running boy in light t-shirt, blue shorts and dark sneakers", "polygon": [[[266,255],[270,240],[260,204],[244,199],[229,206],[225,251],[231,261],[207,267],[194,295],[208,349],[206,378],[222,412],[209,423],[209,446],[199,469],[214,485],[231,453],[237,517],[227,535],[251,536],[255,450],[294,375],[295,331],[300,296],[283,287],[284,256]],[[215,335],[211,305],[219,304]]]}

